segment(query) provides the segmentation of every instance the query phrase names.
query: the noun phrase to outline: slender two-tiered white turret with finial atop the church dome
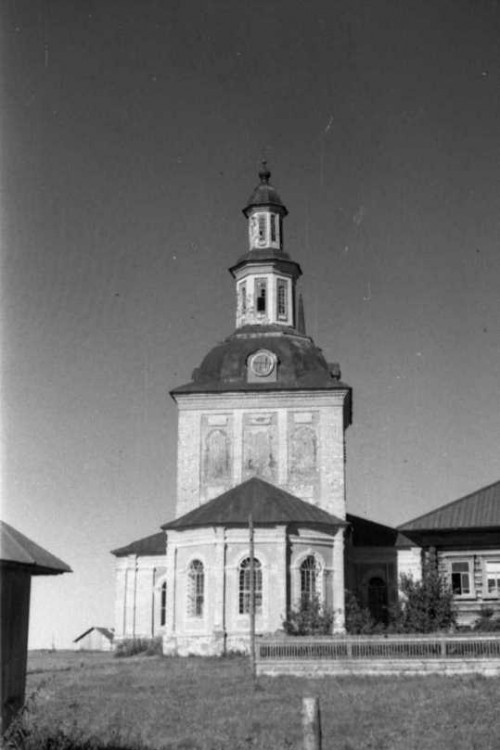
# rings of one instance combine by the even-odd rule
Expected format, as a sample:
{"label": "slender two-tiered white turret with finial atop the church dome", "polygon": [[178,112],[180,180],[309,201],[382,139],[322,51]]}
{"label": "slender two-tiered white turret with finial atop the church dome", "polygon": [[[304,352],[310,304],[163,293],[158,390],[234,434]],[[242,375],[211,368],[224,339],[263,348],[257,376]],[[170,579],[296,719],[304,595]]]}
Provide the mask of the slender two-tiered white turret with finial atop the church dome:
{"label": "slender two-tiered white turret with finial atop the church dome", "polygon": [[243,213],[248,220],[248,251],[230,268],[236,279],[236,327],[296,327],[296,282],[302,271],[283,249],[286,206],[262,162],[259,184]]}

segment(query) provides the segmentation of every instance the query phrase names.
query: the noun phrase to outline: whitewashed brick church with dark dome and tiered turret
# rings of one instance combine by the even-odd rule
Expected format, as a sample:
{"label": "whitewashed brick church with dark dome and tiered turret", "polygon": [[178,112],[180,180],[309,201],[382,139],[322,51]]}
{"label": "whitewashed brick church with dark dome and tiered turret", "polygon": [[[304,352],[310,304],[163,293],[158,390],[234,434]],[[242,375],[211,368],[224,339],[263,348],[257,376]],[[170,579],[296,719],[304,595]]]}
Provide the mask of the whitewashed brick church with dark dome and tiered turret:
{"label": "whitewashed brick church with dark dome and tiered turret", "polygon": [[234,333],[171,392],[175,519],[113,552],[116,641],[161,635],[164,652],[179,654],[245,648],[251,568],[258,635],[279,631],[303,596],[318,596],[343,632],[347,559],[368,602],[375,591],[383,608],[397,595],[394,540],[380,527],[374,569],[364,546],[373,535],[358,528],[356,549],[346,517],[351,389],[305,332],[302,271],[285,250],[288,211],[270,177],[264,162],[243,209],[248,247],[229,269]]}

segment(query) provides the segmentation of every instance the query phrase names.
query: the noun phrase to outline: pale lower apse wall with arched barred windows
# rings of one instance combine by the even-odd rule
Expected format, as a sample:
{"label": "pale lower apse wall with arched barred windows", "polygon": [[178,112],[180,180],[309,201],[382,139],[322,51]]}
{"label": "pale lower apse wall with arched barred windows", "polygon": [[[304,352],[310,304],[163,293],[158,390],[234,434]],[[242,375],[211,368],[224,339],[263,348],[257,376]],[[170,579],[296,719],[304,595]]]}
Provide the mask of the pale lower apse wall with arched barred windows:
{"label": "pale lower apse wall with arched barred windows", "polygon": [[[259,636],[282,629],[289,608],[300,601],[301,564],[313,556],[319,566],[318,594],[343,630],[343,530],[335,540],[323,531],[285,526],[255,529],[255,628]],[[169,531],[165,653],[222,653],[248,647],[250,616],[245,565],[250,555],[244,528]],[[340,565],[339,565],[340,559]],[[339,567],[337,567],[339,565]],[[200,581],[203,575],[202,586]]]}

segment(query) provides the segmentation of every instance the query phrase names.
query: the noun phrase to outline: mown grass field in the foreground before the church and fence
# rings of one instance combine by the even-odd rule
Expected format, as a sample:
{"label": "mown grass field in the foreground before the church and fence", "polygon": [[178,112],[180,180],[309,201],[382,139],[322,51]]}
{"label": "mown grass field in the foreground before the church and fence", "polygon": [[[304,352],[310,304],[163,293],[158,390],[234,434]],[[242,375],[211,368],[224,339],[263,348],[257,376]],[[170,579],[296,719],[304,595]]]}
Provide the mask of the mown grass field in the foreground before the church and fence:
{"label": "mown grass field in the foreground before the church and fence", "polygon": [[278,750],[301,747],[302,697],[318,695],[323,750],[488,750],[500,747],[499,691],[496,678],[436,676],[261,677],[254,686],[240,657],[32,652],[27,721],[35,737],[62,732],[100,747]]}

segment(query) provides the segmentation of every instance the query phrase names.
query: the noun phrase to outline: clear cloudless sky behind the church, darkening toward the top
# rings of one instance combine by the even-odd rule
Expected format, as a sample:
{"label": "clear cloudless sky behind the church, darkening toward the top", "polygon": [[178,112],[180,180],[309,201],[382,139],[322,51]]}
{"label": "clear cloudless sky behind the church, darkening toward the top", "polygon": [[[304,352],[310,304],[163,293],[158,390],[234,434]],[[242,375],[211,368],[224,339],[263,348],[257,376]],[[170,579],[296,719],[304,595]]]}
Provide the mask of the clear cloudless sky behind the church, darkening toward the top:
{"label": "clear cloudless sky behind the church, darkening toward the top", "polygon": [[2,518],[68,563],[30,647],[114,620],[174,514],[169,391],[234,330],[266,158],[306,325],[353,388],[351,513],[500,479],[496,0],[6,0]]}

